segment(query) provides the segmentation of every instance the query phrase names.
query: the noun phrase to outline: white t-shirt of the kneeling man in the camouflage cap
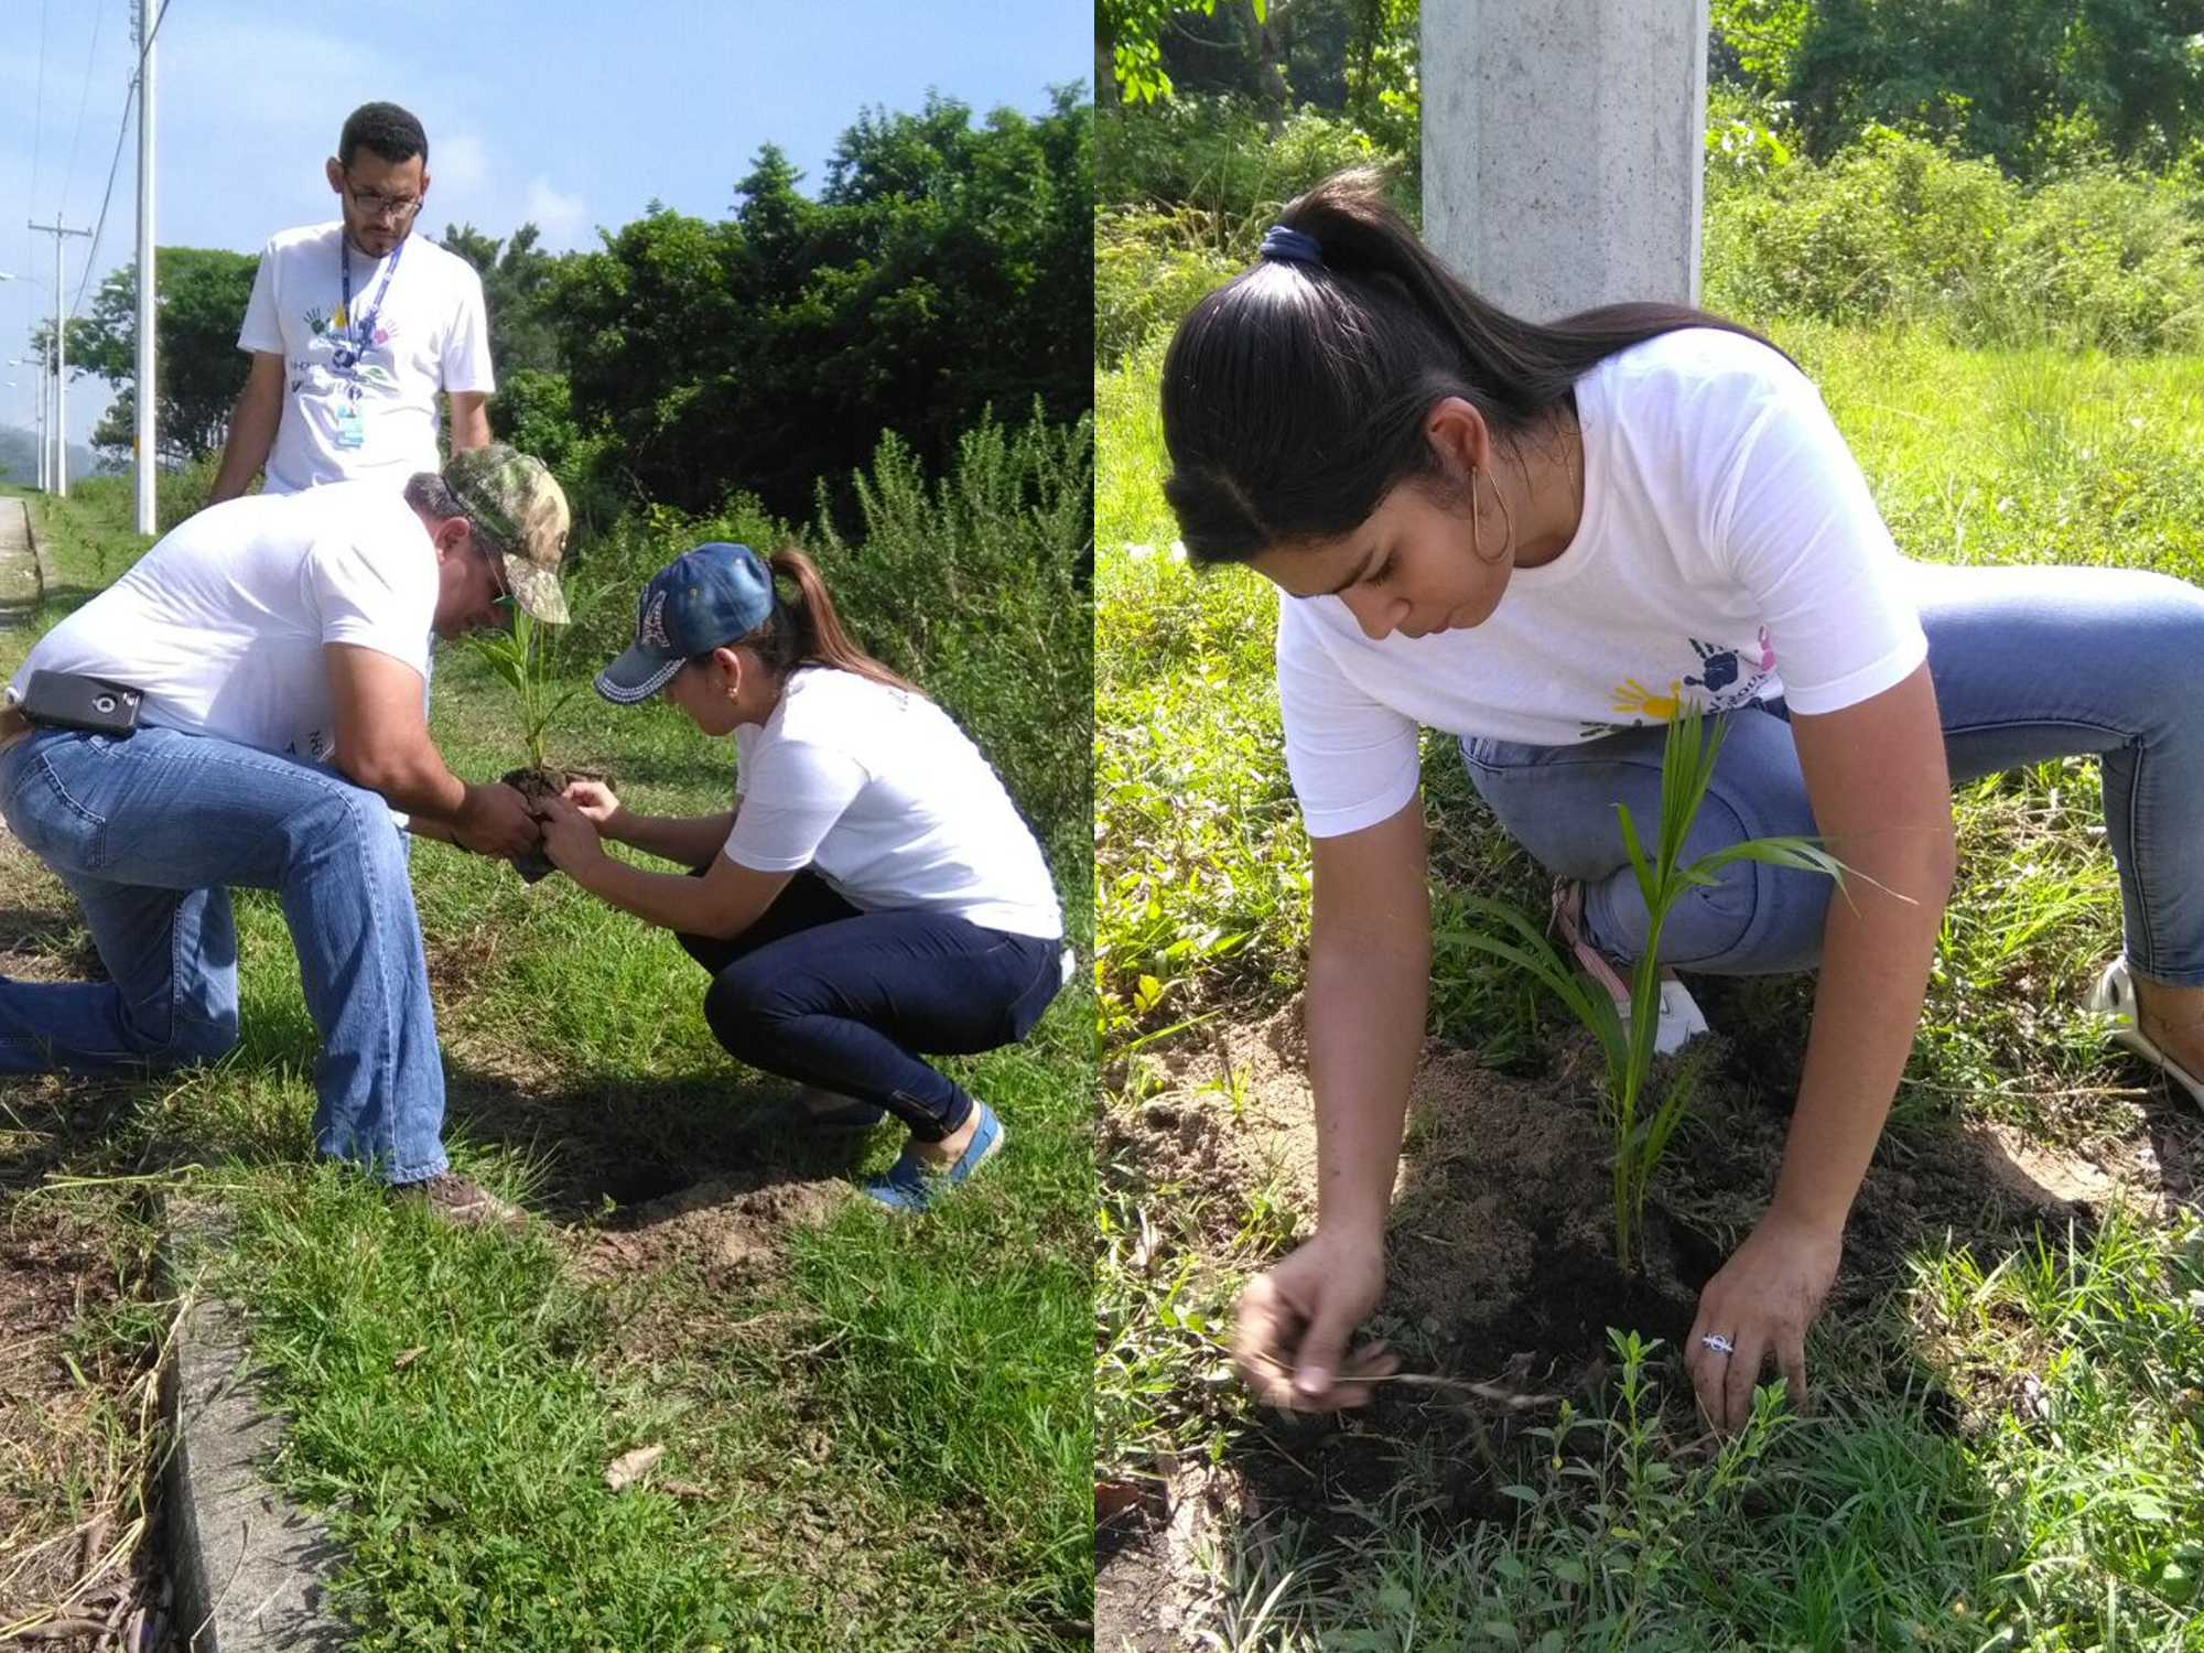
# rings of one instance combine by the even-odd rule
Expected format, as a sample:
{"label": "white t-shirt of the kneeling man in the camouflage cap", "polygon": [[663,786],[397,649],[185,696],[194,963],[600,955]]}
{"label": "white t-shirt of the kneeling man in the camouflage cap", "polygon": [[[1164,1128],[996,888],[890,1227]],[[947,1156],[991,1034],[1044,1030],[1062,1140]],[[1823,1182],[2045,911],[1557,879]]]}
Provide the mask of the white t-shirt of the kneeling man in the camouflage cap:
{"label": "white t-shirt of the kneeling man in the camouflage cap", "polygon": [[379,483],[247,494],[187,518],[130,573],[37,639],[15,674],[86,672],[145,692],[139,721],[324,763],[335,745],[324,644],[428,679],[436,549]]}

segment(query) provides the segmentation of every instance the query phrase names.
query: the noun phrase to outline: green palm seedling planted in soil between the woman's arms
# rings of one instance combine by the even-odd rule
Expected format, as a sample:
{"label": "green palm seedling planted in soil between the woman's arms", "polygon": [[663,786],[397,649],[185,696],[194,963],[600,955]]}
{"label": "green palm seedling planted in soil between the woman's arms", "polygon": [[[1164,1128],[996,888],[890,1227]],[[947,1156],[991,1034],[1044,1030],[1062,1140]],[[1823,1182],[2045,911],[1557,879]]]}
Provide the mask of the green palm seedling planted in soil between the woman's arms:
{"label": "green palm seedling planted in soil between the woman's arms", "polygon": [[1622,853],[1629,855],[1631,873],[1638,877],[1638,893],[1646,904],[1646,941],[1631,965],[1629,1025],[1616,1001],[1596,981],[1580,974],[1560,948],[1547,939],[1545,930],[1519,908],[1483,895],[1463,895],[1461,910],[1483,919],[1492,928],[1448,932],[1479,952],[1494,954],[1527,970],[1569,1012],[1591,1029],[1602,1058],[1602,1104],[1607,1126],[1613,1133],[1613,1208],[1616,1208],[1616,1267],[1635,1274],[1644,1263],[1642,1225],[1646,1188],[1653,1170],[1668,1150],[1697,1073],[1690,1062],[1675,1062],[1668,1069],[1660,1100],[1649,1106],[1646,1093],[1653,1076],[1653,1040],[1660,1031],[1660,937],[1668,912],[1693,888],[1717,882],[1721,868],[1735,862],[1765,862],[1805,873],[1825,873],[1845,882],[1845,866],[1809,838],[1748,838],[1728,844],[1693,862],[1684,862],[1684,842],[1690,824],[1706,800],[1708,782],[1715,778],[1715,760],[1721,756],[1724,723],[1706,716],[1695,705],[1682,705],[1668,719],[1668,734],[1662,745],[1660,774],[1660,822],[1651,851],[1638,835],[1638,822],[1629,804],[1616,804],[1622,829]]}

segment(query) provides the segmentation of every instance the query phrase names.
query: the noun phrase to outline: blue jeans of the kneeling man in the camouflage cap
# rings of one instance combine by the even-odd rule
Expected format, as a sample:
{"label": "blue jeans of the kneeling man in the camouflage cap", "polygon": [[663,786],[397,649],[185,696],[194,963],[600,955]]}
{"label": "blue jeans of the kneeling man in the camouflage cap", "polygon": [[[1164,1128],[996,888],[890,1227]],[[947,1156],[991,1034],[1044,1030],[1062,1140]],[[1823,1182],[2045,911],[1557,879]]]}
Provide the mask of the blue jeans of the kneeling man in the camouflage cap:
{"label": "blue jeans of the kneeling man in the camouflage cap", "polygon": [[0,1073],[137,1073],[238,1038],[229,888],[276,890],[298,948],[315,1146],[390,1181],[445,1168],[443,1060],[390,807],[344,776],[174,730],[40,730],[0,813],[84,906],[104,983],[0,979]]}

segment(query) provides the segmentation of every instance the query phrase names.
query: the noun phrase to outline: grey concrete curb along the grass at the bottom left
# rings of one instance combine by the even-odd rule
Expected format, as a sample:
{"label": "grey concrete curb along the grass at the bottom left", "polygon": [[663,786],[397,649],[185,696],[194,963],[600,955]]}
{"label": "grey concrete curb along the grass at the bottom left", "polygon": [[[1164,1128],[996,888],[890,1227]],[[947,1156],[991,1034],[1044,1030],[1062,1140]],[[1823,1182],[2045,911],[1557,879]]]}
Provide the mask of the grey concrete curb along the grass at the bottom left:
{"label": "grey concrete curb along the grass at the bottom left", "polygon": [[[163,1228],[181,1285],[196,1254],[229,1243],[231,1225],[218,1208],[172,1199]],[[174,1441],[163,1497],[179,1642],[190,1653],[337,1653],[348,1631],[324,1596],[342,1552],[262,1474],[282,1419],[262,1406],[238,1305],[190,1303],[161,1400]]]}

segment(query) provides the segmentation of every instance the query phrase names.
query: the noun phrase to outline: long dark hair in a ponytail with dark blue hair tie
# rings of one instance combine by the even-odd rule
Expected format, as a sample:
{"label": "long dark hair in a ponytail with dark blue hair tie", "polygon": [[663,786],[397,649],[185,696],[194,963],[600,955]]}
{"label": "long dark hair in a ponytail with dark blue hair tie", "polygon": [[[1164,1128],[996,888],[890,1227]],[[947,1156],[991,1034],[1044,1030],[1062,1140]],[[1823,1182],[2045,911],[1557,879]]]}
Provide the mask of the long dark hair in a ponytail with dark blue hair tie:
{"label": "long dark hair in a ponytail with dark blue hair tie", "polygon": [[1525,322],[1439,262],[1382,183],[1355,168],[1289,201],[1278,223],[1311,236],[1320,262],[1265,258],[1179,322],[1164,498],[1192,562],[1360,527],[1395,485],[1439,474],[1424,414],[1446,397],[1508,443],[1616,350],[1684,326],[1761,337],[1682,304]]}

